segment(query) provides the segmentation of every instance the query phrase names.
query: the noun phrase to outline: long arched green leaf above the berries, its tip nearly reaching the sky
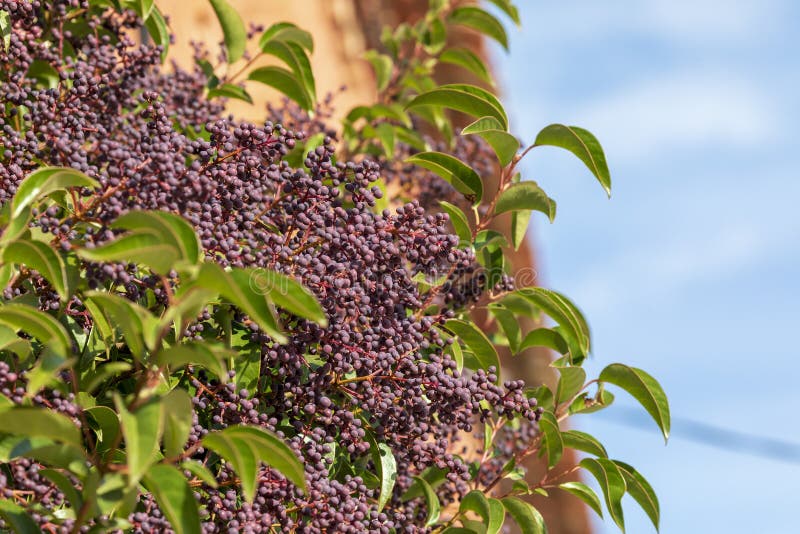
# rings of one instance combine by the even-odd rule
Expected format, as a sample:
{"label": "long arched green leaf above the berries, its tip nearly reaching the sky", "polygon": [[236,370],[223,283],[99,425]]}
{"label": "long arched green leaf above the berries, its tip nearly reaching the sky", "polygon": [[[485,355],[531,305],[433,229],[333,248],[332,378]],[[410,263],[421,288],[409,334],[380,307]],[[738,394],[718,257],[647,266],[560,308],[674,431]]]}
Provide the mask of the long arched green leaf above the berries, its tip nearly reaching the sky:
{"label": "long arched green leaf above the berries, its tip nearly reaching the sky", "polygon": [[490,92],[467,84],[442,85],[431,91],[417,95],[406,105],[406,109],[422,106],[443,107],[461,111],[473,117],[494,117],[508,129],[508,117],[503,105]]}

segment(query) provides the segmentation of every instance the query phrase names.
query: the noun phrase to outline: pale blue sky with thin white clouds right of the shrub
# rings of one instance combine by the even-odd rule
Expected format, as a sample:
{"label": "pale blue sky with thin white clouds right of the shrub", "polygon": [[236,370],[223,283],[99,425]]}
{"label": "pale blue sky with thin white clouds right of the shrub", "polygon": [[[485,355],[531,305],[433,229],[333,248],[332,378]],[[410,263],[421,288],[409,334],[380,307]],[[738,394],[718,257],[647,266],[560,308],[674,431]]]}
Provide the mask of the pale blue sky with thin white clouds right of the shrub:
{"label": "pale blue sky with thin white clouds right of the shrub", "polygon": [[[519,4],[495,61],[513,129],[586,127],[613,180],[609,201],[567,153],[528,157],[559,203],[535,221],[540,281],[583,308],[594,371],[646,369],[678,419],[666,447],[613,408],[576,424],[655,486],[664,534],[797,532],[799,463],[690,441],[682,419],[800,443],[800,3]],[[629,533],[654,532],[625,511]]]}

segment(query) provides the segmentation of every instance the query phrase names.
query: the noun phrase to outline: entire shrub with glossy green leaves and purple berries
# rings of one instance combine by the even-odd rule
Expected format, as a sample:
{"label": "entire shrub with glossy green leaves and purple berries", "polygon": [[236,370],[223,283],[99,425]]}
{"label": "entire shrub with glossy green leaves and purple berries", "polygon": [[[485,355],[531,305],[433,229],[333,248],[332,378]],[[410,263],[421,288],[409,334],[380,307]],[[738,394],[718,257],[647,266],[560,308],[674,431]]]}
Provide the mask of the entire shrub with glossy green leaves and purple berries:
{"label": "entire shrub with glossy green leaves and purple berries", "polygon": [[[564,421],[608,406],[611,384],[666,438],[664,392],[618,363],[587,380],[583,315],[517,287],[505,255],[532,211],[555,217],[520,160],[564,148],[610,191],[602,149],[550,125],[522,150],[489,89],[435,81],[447,63],[491,85],[448,34],[507,46],[500,19],[433,0],[386,29],[365,58],[378,101],[335,124],[311,35],[248,30],[211,4],[220,62],[198,49],[185,71],[161,67],[152,1],[0,0],[0,526],[544,532],[524,497],[560,490],[602,512],[563,481],[565,448],[588,455],[571,471],[597,479],[621,528],[626,493],[657,526],[644,477]],[[130,40],[141,27],[155,46]],[[281,65],[255,68],[263,55]],[[275,122],[226,118],[253,83],[291,100]],[[471,117],[460,132],[452,112]],[[492,226],[502,213],[510,235]],[[498,346],[560,353],[555,391],[503,381]],[[535,455],[550,471],[529,486]]]}

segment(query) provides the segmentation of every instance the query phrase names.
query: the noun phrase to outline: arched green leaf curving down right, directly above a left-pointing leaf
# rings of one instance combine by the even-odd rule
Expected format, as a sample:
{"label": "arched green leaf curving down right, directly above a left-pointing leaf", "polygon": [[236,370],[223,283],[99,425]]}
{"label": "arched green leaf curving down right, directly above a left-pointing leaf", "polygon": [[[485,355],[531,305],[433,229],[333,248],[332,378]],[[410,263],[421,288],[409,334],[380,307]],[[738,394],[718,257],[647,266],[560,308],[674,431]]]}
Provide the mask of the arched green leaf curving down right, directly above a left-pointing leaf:
{"label": "arched green leaf curving down right, directly above a left-pointing leaf", "polygon": [[179,258],[191,264],[202,259],[202,247],[194,228],[179,215],[166,211],[131,211],[118,217],[112,228],[151,231],[180,252]]}

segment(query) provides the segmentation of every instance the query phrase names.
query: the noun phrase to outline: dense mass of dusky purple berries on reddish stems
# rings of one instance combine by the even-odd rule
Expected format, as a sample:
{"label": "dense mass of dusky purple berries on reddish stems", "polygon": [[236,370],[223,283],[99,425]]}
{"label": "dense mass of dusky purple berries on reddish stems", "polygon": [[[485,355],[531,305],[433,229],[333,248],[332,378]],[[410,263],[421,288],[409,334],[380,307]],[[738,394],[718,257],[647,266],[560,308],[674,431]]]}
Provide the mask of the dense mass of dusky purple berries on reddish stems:
{"label": "dense mass of dusky purple berries on reddish stems", "polygon": [[[67,17],[73,8],[91,13],[85,26]],[[468,459],[454,453],[461,434],[492,416],[535,428],[539,411],[521,384],[496,385],[493,368],[461,372],[447,350],[452,339],[444,323],[486,290],[473,251],[459,248],[447,216],[430,209],[434,198],[452,197],[449,185],[406,165],[337,160],[335,139],[319,116],[271,108],[275,122],[260,125],[224,116],[221,103],[205,97],[200,68],[162,70],[158,48],[126,37],[140,24],[132,12],[98,13],[88,0],[0,0],[0,10],[12,22],[10,45],[0,49],[0,205],[39,166],[72,167],[95,178],[99,189],[84,190],[74,213],[53,205],[33,220],[63,250],[113,239],[110,224],[131,210],[177,213],[196,229],[208,261],[290,275],[314,292],[328,317],[322,327],[282,312],[289,342],[281,345],[237,315],[257,374],[232,373],[227,383],[203,371],[184,374],[194,393],[191,459],[208,461],[199,447],[207,432],[259,425],[304,460],[308,484],[303,494],[264,467],[248,504],[223,466],[217,488],[196,485],[205,532],[424,531],[424,501],[402,498],[415,475],[444,470],[437,491],[451,502],[470,489]],[[50,86],[31,74],[43,69],[56,75]],[[302,165],[290,165],[287,154],[319,132],[328,134],[321,146]],[[459,146],[476,168],[489,165],[479,143]],[[376,210],[382,175],[403,187],[415,183],[421,201]],[[171,280],[133,264],[82,268],[90,287],[115,288],[139,302],[152,295],[156,307],[172,290],[165,286]],[[35,272],[28,276],[32,285],[15,280],[3,297],[33,292],[42,309],[90,326],[78,297],[60,302]],[[420,276],[444,282],[425,292]],[[202,340],[215,328],[204,312],[186,334]],[[21,403],[25,390],[11,369],[0,361],[0,392]],[[33,402],[80,423],[80,409],[59,391]],[[398,469],[382,511],[373,482],[351,472],[352,466],[374,472],[374,441],[391,447]],[[2,495],[34,511],[40,525],[55,521],[66,531],[69,520],[48,513],[64,497],[39,470],[28,459],[4,464]],[[169,531],[149,495],[128,521],[136,532]]]}

